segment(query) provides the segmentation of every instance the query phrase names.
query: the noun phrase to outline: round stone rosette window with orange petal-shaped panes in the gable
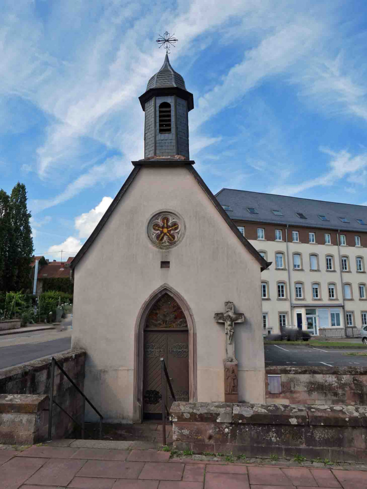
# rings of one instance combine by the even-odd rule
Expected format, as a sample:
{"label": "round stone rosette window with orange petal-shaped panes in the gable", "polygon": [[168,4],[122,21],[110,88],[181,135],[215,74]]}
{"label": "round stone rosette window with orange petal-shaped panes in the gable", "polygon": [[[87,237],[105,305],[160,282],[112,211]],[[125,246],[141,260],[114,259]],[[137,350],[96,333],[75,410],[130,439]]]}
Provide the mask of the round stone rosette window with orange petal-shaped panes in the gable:
{"label": "round stone rosette window with orange petal-shaped panes in the gable", "polygon": [[185,222],[176,212],[160,211],[149,220],[147,233],[155,247],[172,248],[184,237]]}

